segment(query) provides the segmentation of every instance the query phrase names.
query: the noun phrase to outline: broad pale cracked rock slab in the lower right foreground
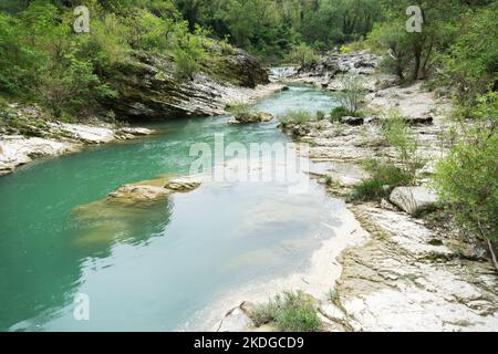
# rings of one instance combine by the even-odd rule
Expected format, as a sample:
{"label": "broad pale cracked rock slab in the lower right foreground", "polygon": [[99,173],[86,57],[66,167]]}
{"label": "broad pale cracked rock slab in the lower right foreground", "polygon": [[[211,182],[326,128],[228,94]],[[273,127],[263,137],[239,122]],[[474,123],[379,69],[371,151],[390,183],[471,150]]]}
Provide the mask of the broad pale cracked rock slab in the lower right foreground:
{"label": "broad pale cracked rock slab in the lower right foreground", "polygon": [[455,251],[444,233],[406,215],[369,205],[354,211],[371,239],[341,257],[334,317],[343,331],[498,329],[498,277],[489,261]]}

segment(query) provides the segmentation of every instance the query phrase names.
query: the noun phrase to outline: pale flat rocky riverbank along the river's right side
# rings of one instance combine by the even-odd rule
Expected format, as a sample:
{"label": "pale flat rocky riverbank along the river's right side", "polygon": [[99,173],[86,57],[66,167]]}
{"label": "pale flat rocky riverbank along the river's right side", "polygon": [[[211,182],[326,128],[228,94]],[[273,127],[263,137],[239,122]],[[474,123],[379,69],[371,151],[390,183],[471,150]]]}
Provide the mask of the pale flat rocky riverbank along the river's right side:
{"label": "pale flat rocky riverbank along the river's right side", "polygon": [[[310,269],[331,292],[323,285],[317,293],[308,281],[286,284],[314,298],[325,331],[498,331],[498,274],[485,249],[468,235],[464,239],[450,220],[415,217],[418,208],[437,201],[429,181],[435,163],[445,154],[440,134],[450,127],[445,119],[450,104],[426,91],[423,82],[395,85],[395,77],[380,74],[377,66],[378,58],[362,52],[333,55],[295,73],[288,71],[287,81],[332,91],[341,90],[338,75],[352,71],[364,77],[371,93],[364,102],[369,114],[357,124],[322,119],[286,131],[308,143],[310,158],[324,166],[313,176],[333,196],[345,197],[369,176],[362,160],[396,159],[380,126],[385,114],[396,108],[411,124],[426,162],[417,171],[418,186],[397,188],[390,200],[349,205],[360,222],[357,228],[349,233],[335,230],[335,247],[342,253],[325,256],[321,250],[314,257],[321,254],[320,268]],[[345,248],[352,243],[356,246]],[[333,264],[338,264],[334,270]],[[255,295],[257,291],[247,292],[247,301],[229,311],[216,330],[274,330],[256,329],[249,315],[251,302],[268,301],[280,291],[281,287],[267,290],[266,300]]]}

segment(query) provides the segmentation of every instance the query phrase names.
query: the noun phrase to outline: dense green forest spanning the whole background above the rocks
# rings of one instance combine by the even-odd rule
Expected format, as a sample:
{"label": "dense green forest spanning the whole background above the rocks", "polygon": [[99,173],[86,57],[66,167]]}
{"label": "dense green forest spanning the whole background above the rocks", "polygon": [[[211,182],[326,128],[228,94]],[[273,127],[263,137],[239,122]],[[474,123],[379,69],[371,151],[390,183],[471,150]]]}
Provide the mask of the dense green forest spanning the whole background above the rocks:
{"label": "dense green forest spanning the whole background above the rocks", "polygon": [[[115,94],[107,77],[131,51],[166,53],[190,76],[200,70],[208,39],[269,63],[302,64],[328,50],[369,48],[385,53],[385,70],[402,80],[427,77],[456,86],[459,102],[496,90],[496,2],[416,1],[424,9],[424,31],[414,34],[404,25],[412,2],[2,1],[0,92],[74,112]],[[71,9],[81,3],[90,8],[90,35],[72,31]],[[59,108],[62,102],[66,107]]]}

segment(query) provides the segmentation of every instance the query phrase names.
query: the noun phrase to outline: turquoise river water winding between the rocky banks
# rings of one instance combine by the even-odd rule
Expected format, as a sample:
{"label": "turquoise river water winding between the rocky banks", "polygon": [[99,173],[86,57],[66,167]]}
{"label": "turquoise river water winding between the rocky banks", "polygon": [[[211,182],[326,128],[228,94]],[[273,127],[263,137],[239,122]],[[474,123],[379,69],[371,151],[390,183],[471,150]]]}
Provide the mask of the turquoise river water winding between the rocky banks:
{"label": "turquoise river water winding between the rocky banks", "polygon": [[[323,91],[291,86],[255,108],[279,115],[335,105]],[[212,144],[215,134],[246,145],[288,142],[277,122],[229,119],[163,123],[159,135],[0,178],[0,330],[172,331],[228,289],[305,267],[331,237],[322,225],[340,222],[333,210],[343,208],[313,181],[300,195],[286,184],[206,183],[143,209],[79,209],[127,183],[188,174],[190,145]],[[90,321],[74,320],[79,293],[89,295]]]}

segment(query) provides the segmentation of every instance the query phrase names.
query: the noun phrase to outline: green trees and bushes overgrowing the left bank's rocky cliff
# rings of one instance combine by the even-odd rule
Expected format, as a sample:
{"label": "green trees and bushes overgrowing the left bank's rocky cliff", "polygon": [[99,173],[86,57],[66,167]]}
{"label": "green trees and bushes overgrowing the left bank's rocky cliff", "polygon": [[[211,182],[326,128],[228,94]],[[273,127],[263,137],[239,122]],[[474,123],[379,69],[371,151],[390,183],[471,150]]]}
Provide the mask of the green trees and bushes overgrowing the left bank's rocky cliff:
{"label": "green trees and bushes overgrowing the left bank's rocky cliff", "polygon": [[[81,4],[90,11],[90,33],[73,29]],[[255,59],[199,25],[189,29],[172,0],[11,2],[0,9],[0,54],[3,100],[38,103],[63,121],[106,116],[122,98],[148,111],[157,96],[175,105],[199,72],[246,86],[267,80]]]}

